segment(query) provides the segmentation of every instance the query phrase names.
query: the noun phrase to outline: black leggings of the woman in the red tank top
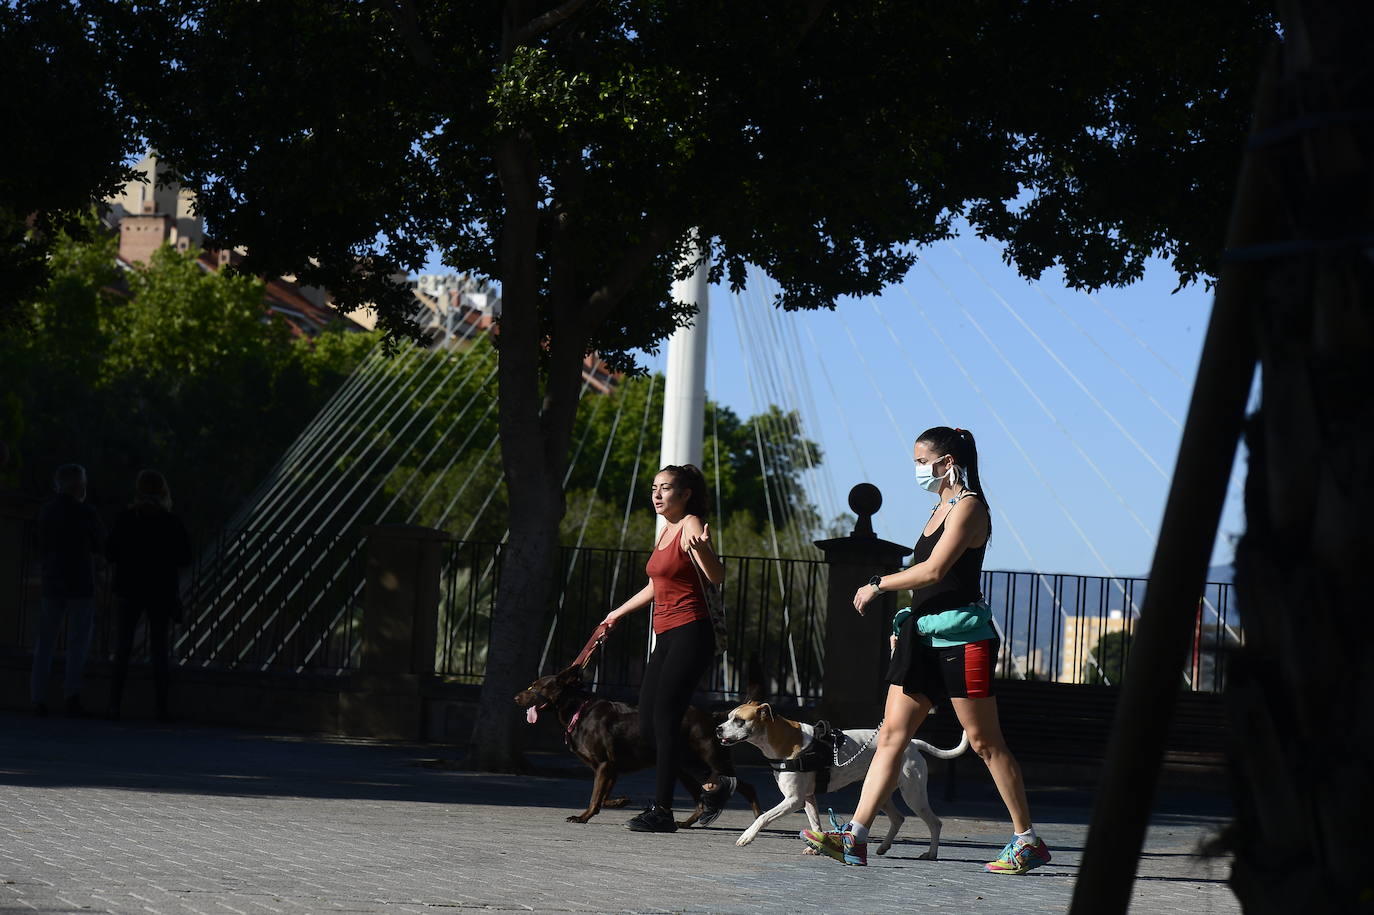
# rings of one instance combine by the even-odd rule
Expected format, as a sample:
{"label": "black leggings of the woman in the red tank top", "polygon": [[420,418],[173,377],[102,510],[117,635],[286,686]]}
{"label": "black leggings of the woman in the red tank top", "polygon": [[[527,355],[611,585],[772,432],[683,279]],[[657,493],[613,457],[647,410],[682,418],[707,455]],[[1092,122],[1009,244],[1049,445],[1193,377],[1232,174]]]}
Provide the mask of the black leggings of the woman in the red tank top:
{"label": "black leggings of the woman in the red tank top", "polygon": [[682,723],[691,694],[714,655],[710,620],[694,620],[664,632],[649,655],[644,683],[639,688],[639,732],[654,742],[658,760],[654,804],[660,806],[672,808],[673,782],[680,767],[701,769],[701,778],[709,775],[705,764],[687,760]]}

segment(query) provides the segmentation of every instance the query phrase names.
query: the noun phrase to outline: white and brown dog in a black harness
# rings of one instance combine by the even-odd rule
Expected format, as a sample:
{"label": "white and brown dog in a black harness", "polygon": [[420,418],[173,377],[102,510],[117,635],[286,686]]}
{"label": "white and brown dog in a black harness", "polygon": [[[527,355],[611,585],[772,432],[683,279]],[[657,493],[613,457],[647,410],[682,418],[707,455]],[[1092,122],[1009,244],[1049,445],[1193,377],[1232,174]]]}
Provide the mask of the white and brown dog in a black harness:
{"label": "white and brown dog in a black harness", "polygon": [[[838,765],[830,768],[830,784],[826,790],[834,791],[846,784],[860,780],[868,772],[872,762],[874,746],[878,739],[875,728],[859,731],[842,731],[838,745]],[[815,728],[809,724],[791,721],[779,714],[774,714],[772,706],[767,702],[745,702],[730,712],[730,717],[716,728],[716,736],[725,746],[747,741],[753,743],[769,760],[796,760],[812,745]],[[829,747],[822,747],[830,752]],[[969,749],[969,735],[965,732],[959,746],[952,750],[941,750],[925,741],[911,741],[901,760],[901,773],[897,778],[897,790],[901,800],[907,802],[916,816],[926,823],[930,830],[930,849],[922,859],[934,860],[940,853],[940,817],[930,809],[930,800],[926,797],[926,758],[922,750],[941,760],[952,760]],[[749,845],[758,835],[758,830],[768,826],[785,813],[793,813],[797,808],[805,808],[811,828],[820,830],[820,816],[816,809],[816,772],[779,772],[774,771],[778,789],[782,791],[782,804],[764,811],[764,813],[750,824],[743,834],[735,839],[735,845]],[[897,835],[903,822],[907,819],[896,805],[896,793],[882,804],[882,812],[888,816],[888,834],[878,846],[877,853],[885,855],[892,848],[892,839]]]}

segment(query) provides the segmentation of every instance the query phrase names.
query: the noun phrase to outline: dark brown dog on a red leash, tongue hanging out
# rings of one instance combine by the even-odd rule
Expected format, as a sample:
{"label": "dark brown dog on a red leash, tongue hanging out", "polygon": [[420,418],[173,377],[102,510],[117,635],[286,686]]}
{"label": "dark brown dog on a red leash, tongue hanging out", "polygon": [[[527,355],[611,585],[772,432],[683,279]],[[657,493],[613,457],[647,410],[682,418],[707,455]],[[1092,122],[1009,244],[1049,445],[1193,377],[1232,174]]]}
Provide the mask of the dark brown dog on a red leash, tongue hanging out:
{"label": "dark brown dog on a red leash, tongue hanging out", "polygon": [[[583,687],[581,668],[572,666],[534,680],[515,694],[515,705],[525,709],[525,720],[530,724],[539,720],[540,712],[552,710],[562,725],[567,749],[596,773],[587,809],[569,816],[569,823],[585,823],[603,806],[622,806],[625,798],[610,797],[616,779],[622,772],[654,765],[654,745],[643,739],[639,732],[639,710],[632,705],[587,692]],[[716,742],[714,727],[705,712],[688,706],[682,727],[688,753],[701,762],[701,768],[710,771],[705,779],[708,783],[714,782],[717,776],[735,773],[735,765],[730,754]],[[677,826],[686,827],[701,819],[705,811],[701,804],[702,783],[691,776],[687,767],[679,768],[677,779],[695,804],[691,815],[677,822]],[[758,793],[753,786],[739,779],[736,790],[749,801],[754,816],[760,816],[763,808],[758,806]]]}

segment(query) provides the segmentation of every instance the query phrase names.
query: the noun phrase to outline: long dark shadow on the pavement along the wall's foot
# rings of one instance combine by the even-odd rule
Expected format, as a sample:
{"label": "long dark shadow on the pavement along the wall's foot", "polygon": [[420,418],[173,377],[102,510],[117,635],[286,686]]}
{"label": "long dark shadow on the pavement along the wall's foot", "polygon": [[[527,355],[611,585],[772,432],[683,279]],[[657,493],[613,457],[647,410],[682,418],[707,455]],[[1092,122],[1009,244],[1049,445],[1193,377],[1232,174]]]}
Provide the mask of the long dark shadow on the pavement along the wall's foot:
{"label": "long dark shadow on the pavement along the wall's foot", "polygon": [[[34,719],[12,712],[0,713],[0,730],[5,735],[0,749],[0,784],[12,786],[548,806],[559,813],[551,812],[554,820],[580,812],[591,794],[591,771],[565,753],[530,753],[529,773],[496,775],[456,768],[462,750],[453,746],[174,723]],[[765,808],[778,801],[779,793],[767,768],[743,765],[739,773],[758,790]],[[943,767],[930,767],[930,801],[941,817],[1006,819],[1006,809],[985,772],[970,769],[962,775],[958,797],[952,801],[945,797],[943,776]],[[625,809],[635,808],[647,801],[651,782],[650,771],[629,773],[621,778],[614,794],[629,795]],[[822,813],[833,806],[841,816],[848,815],[859,800],[859,789],[855,783],[823,795]],[[1092,797],[1091,791],[1072,786],[1030,786],[1029,790],[1032,811],[1052,808],[1052,819],[1061,823],[1088,823]],[[731,801],[731,806],[742,804]],[[621,811],[606,811],[600,816],[617,817]],[[1228,816],[1230,801],[1224,795],[1162,791],[1153,823],[1168,827],[1175,820],[1220,822]],[[912,826],[916,831],[923,828],[919,823]],[[947,844],[958,846],[948,839]]]}

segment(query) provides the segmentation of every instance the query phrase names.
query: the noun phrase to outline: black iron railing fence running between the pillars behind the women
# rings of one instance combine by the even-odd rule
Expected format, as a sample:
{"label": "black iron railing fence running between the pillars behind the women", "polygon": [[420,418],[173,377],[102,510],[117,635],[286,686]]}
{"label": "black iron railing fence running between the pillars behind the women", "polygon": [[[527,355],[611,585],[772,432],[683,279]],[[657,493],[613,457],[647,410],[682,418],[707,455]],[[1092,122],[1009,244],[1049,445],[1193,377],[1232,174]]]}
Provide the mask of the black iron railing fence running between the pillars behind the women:
{"label": "black iron railing fence running between the pillars behind the women", "polygon": [[[38,620],[37,552],[22,563],[18,629],[0,640],[32,647]],[[500,544],[444,544],[436,670],[480,683],[500,574]],[[540,624],[540,669],[577,654],[609,610],[647,581],[647,550],[565,547],[556,599]],[[184,587],[185,613],[173,633],[180,665],[284,672],[357,666],[365,540],[271,530],[228,532],[199,552]],[[731,654],[708,688],[738,695],[757,686],[798,703],[820,698],[824,675],[829,566],[816,559],[725,556]],[[1117,686],[1147,583],[1142,578],[985,572],[984,594],[1002,633],[998,676]],[[114,647],[114,613],[102,587],[92,657]],[[1243,640],[1231,585],[1210,583],[1197,607],[1180,687],[1220,691],[1230,650]],[[139,640],[142,643],[142,639]],[[651,647],[649,614],[617,626],[589,675],[611,691],[633,690]]]}

